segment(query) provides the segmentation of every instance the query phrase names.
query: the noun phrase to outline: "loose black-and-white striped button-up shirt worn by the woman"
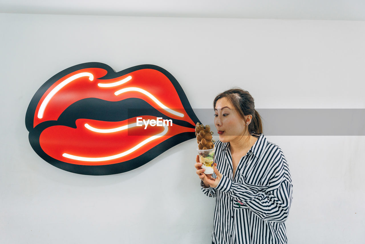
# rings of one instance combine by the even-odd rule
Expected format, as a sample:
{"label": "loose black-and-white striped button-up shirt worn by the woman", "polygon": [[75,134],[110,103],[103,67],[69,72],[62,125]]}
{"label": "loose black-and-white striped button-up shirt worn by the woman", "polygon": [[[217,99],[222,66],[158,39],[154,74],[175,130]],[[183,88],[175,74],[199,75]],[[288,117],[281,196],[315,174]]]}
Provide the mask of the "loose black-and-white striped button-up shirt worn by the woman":
{"label": "loose black-and-white striped button-up shirt worn by the woman", "polygon": [[[285,221],[292,202],[293,185],[283,151],[264,134],[244,155],[233,177],[229,142],[215,142],[215,162],[223,175],[216,188],[204,188],[216,198],[212,241],[215,244],[288,243]],[[213,173],[214,178],[216,175]]]}

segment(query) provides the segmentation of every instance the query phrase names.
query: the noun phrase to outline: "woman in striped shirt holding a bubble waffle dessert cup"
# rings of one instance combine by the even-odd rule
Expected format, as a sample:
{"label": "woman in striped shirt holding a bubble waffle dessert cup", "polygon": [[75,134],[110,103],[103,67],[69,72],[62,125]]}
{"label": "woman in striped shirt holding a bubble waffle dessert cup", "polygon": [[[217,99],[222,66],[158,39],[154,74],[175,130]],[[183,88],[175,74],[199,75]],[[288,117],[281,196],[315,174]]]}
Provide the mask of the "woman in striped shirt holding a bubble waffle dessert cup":
{"label": "woman in striped shirt holding a bubble waffle dessert cup", "polygon": [[262,134],[247,91],[224,91],[213,107],[214,173],[204,174],[198,156],[195,164],[202,191],[216,198],[212,243],[287,243],[293,185],[283,151]]}

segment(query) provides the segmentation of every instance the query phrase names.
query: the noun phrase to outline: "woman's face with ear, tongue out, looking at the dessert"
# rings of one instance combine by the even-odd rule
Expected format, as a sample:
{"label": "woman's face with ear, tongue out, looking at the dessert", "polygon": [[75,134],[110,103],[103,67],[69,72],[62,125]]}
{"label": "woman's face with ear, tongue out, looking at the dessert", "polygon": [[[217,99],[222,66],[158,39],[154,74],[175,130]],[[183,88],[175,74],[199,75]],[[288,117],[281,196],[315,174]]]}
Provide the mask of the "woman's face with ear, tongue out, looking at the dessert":
{"label": "woman's face with ear, tongue out, looking at the dessert", "polygon": [[[215,104],[214,124],[221,142],[239,142],[244,135],[246,122],[239,116],[237,109],[226,98],[220,98]],[[251,122],[247,116],[247,122]],[[248,131],[246,133],[249,134]]]}

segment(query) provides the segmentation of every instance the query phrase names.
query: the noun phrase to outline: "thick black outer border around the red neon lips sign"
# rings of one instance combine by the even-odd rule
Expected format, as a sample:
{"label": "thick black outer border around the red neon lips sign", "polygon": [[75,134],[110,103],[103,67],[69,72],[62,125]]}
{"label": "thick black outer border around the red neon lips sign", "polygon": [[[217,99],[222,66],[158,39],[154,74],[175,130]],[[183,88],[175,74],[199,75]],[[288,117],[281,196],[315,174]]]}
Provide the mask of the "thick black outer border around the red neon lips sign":
{"label": "thick black outer border around the red neon lips sign", "polygon": [[[62,77],[66,76],[72,72],[75,72],[75,71],[78,71],[81,69],[85,69],[85,68],[102,68],[102,69],[106,70],[107,74],[99,79],[112,79],[115,77],[126,75],[133,71],[142,70],[142,69],[153,69],[153,70],[160,71],[162,74],[164,74],[170,80],[170,82],[174,86],[174,88],[180,98],[181,104],[183,105],[185,111],[187,112],[187,115],[192,119],[192,121],[194,121],[195,124],[196,124],[196,122],[200,122],[199,119],[196,117],[195,113],[193,112],[193,109],[191,108],[188,98],[186,97],[180,84],[177,82],[177,80],[174,78],[174,76],[172,76],[164,68],[161,68],[161,67],[159,67],[157,65],[153,65],[153,64],[142,64],[142,65],[137,65],[137,66],[134,66],[131,68],[127,68],[127,69],[119,71],[119,72],[115,72],[109,65],[103,64],[103,63],[90,62],[90,63],[77,64],[70,68],[66,68],[65,70],[57,73],[56,75],[52,76],[49,80],[47,80],[34,94],[32,100],[30,101],[30,104],[28,106],[27,112],[26,112],[25,124],[26,124],[27,130],[29,131],[28,138],[29,138],[31,147],[42,159],[44,159],[49,164],[51,164],[59,169],[63,169],[63,170],[66,170],[66,171],[69,171],[72,173],[77,173],[77,174],[86,174],[86,175],[118,174],[118,173],[123,173],[123,172],[127,172],[130,170],[136,169],[136,168],[146,164],[147,162],[151,161],[152,159],[156,158],[158,155],[169,150],[171,147],[176,146],[177,144],[184,142],[186,140],[196,138],[195,132],[184,132],[181,134],[177,134],[167,140],[164,140],[157,146],[151,148],[150,150],[146,151],[145,153],[143,153],[142,155],[140,155],[136,158],[130,159],[128,161],[116,163],[116,164],[109,164],[109,165],[77,165],[77,164],[70,164],[70,163],[62,162],[62,161],[59,161],[57,159],[50,157],[48,154],[46,154],[42,150],[40,143],[39,143],[39,137],[40,137],[42,131],[44,129],[54,126],[54,125],[66,125],[69,127],[76,128],[76,125],[74,123],[76,120],[70,121],[68,119],[65,119],[66,116],[62,116],[62,114],[61,114],[57,121],[56,120],[44,121],[44,122],[36,125],[33,128],[35,110],[36,110],[37,105],[38,105],[39,101],[41,100],[43,94],[46,93],[46,91],[55,82],[57,82],[57,80],[61,79]],[[86,99],[79,100],[77,102],[82,101],[82,102],[86,102],[86,104],[88,104],[89,99],[94,99],[93,102],[95,102],[96,98],[86,98]],[[129,103],[132,103],[132,104],[135,104],[136,102],[137,103],[140,102],[140,104],[142,104],[142,106],[147,107],[147,105],[143,105],[143,102],[145,104],[147,104],[147,103],[144,100],[141,100],[143,102],[139,101],[140,99],[138,99],[138,98],[127,98],[125,100],[129,100]],[[104,101],[104,100],[100,100],[100,101]],[[124,101],[124,100],[122,100],[122,101]],[[75,102],[74,104],[76,104],[77,102]],[[74,104],[72,104],[68,108],[72,107]],[[90,106],[92,107],[93,105],[94,104],[91,104]],[[147,109],[151,110],[150,108],[147,108]],[[158,111],[155,113],[155,115],[158,115],[160,117],[162,116],[161,113],[159,113]],[[76,117],[77,117],[77,115],[76,115]],[[133,116],[129,116],[129,117],[133,117]],[[163,116],[163,117],[166,117],[166,116]],[[80,119],[80,117],[77,117],[77,119]],[[118,120],[115,120],[115,121],[118,121]],[[190,123],[188,123],[186,121],[179,121],[176,119],[173,121],[174,121],[173,123],[180,124],[185,127],[195,128],[195,126],[191,125]]]}

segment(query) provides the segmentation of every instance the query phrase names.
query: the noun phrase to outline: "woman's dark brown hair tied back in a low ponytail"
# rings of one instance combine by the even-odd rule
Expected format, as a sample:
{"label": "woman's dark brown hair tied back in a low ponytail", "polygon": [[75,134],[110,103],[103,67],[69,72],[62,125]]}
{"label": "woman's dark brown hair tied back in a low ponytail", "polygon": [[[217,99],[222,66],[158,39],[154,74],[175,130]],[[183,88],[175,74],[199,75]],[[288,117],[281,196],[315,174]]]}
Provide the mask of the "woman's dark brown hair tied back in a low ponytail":
{"label": "woman's dark brown hair tied back in a low ponytail", "polygon": [[[220,98],[226,97],[237,109],[238,114],[246,121],[247,115],[252,115],[251,123],[248,126],[249,132],[262,133],[262,121],[260,114],[255,110],[254,99],[248,91],[234,87],[218,94],[213,101],[213,108]],[[246,134],[247,126],[244,134]]]}

